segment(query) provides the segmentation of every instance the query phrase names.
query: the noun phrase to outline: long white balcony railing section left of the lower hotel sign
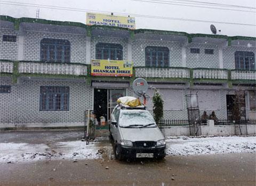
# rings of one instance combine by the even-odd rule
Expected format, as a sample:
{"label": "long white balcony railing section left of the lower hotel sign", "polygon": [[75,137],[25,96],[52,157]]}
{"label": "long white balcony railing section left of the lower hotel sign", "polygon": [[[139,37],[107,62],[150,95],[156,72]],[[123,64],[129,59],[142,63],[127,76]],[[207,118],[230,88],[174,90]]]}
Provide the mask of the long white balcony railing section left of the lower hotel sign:
{"label": "long white balcony railing section left of the lower hotel sign", "polygon": [[72,63],[20,62],[19,73],[86,75],[87,67]]}

